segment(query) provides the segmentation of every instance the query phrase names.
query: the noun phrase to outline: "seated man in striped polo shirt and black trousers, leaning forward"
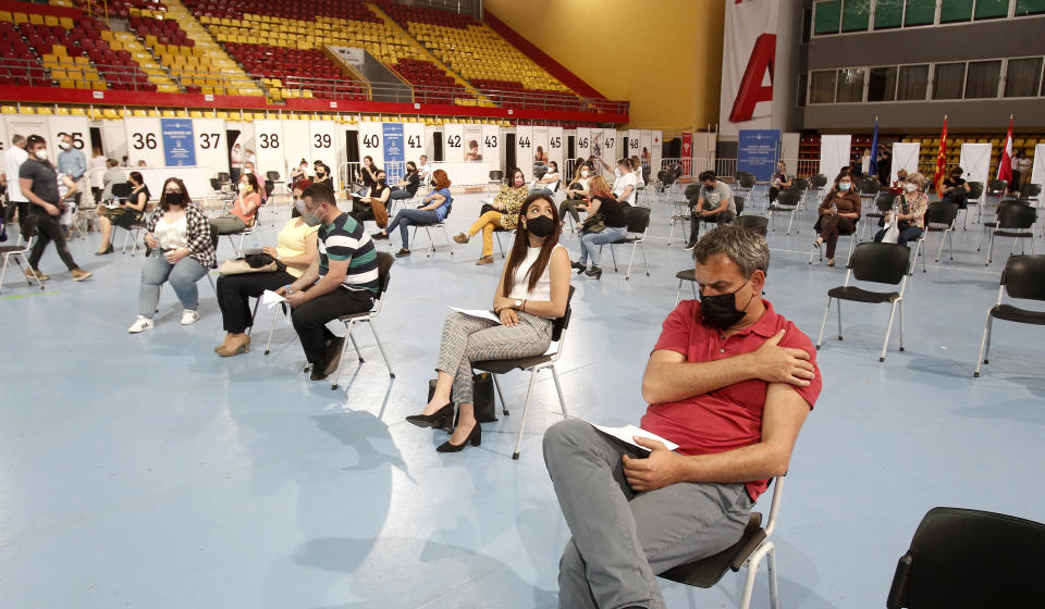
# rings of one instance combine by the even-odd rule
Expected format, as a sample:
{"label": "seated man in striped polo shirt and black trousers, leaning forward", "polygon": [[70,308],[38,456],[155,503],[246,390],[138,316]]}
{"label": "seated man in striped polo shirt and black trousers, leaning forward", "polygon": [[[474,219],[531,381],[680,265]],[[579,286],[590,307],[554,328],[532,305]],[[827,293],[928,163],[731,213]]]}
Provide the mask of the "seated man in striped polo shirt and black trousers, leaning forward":
{"label": "seated man in striped polo shirt and black trousers, leaning forward", "polygon": [[337,209],[330,186],[314,184],[302,192],[302,200],[305,222],[321,224],[319,257],[296,282],[276,293],[294,310],[291,319],[312,366],[310,378],[322,381],[337,370],[345,341],[334,336],[327,323],[373,306],[378,252],[362,224]]}

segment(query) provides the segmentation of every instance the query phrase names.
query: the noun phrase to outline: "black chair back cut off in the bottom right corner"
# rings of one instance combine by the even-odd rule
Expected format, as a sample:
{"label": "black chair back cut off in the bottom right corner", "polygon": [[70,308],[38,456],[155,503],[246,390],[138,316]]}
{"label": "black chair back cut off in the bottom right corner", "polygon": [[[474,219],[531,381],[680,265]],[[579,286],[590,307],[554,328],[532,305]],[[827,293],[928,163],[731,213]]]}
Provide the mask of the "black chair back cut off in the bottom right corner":
{"label": "black chair back cut off in the bottom right corner", "polygon": [[896,566],[888,609],[1034,607],[1041,602],[1045,524],[963,508],[933,508]]}

